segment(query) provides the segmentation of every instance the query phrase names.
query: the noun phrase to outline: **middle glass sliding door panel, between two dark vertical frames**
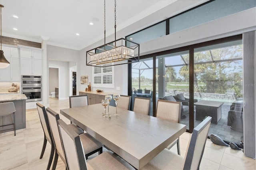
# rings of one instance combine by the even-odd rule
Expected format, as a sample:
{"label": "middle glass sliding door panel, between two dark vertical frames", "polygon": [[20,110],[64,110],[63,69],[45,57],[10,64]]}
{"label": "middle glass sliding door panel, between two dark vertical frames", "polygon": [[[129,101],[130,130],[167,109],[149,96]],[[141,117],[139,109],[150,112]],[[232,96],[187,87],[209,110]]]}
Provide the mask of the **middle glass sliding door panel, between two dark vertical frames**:
{"label": "middle glass sliding door panel, between two dark vertical frames", "polygon": [[[183,99],[181,99],[183,96]],[[182,102],[181,123],[189,127],[189,51],[156,57],[156,98]],[[157,101],[157,100],[156,100]]]}

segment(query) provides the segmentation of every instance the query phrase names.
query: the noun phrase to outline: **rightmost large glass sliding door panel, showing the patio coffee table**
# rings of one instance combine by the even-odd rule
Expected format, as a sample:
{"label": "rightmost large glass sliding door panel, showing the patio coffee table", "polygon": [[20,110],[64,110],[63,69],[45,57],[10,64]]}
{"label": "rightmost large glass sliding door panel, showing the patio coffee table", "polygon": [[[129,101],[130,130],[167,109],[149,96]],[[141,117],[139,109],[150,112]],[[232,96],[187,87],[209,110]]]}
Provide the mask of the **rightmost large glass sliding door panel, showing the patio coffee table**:
{"label": "rightmost large glass sliding door panel, showing the patio coffee table", "polygon": [[194,127],[212,117],[210,134],[243,140],[242,40],[194,49]]}

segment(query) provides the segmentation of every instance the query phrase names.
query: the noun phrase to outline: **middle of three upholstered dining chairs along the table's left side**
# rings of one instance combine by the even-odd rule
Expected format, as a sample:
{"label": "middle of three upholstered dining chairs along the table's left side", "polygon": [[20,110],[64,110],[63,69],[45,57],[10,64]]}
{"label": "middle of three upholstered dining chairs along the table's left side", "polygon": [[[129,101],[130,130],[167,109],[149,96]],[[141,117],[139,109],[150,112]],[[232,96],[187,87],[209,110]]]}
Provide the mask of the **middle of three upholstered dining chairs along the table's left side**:
{"label": "middle of three upholstered dining chairs along the table's left side", "polygon": [[[46,109],[47,111],[47,116],[48,116],[48,120],[49,120],[49,124],[50,124],[50,129],[52,132],[52,137],[54,139],[54,145],[55,145],[55,156],[54,156],[54,161],[53,161],[53,165],[52,165],[52,169],[56,168],[57,162],[58,162],[58,156],[60,156],[60,158],[62,159],[62,161],[66,164],[66,166],[68,166],[68,163],[66,161],[66,157],[64,154],[64,150],[62,147],[62,143],[61,143],[61,138],[60,138],[60,131],[58,128],[58,120],[60,120],[60,116],[58,113],[56,113],[55,111],[53,111],[50,108]],[[69,124],[72,125],[72,124]],[[70,129],[74,130],[74,132],[76,132],[76,126],[69,126]],[[76,132],[76,134],[78,134]],[[80,135],[80,139],[82,143],[88,143],[88,145],[86,145],[87,147],[84,147],[84,154],[86,156],[86,158],[88,158],[88,156],[98,152],[99,154],[102,153],[102,146],[103,144],[100,143],[98,140],[96,140],[95,138],[93,138],[90,134],[88,133],[82,133],[79,134]]]}

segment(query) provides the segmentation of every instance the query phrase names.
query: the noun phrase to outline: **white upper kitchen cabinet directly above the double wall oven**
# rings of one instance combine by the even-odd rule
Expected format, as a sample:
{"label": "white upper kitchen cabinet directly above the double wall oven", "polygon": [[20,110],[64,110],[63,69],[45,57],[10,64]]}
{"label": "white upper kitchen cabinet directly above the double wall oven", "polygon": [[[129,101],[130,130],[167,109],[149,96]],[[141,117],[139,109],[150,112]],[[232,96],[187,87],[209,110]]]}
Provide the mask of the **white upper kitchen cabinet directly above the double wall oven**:
{"label": "white upper kitchen cabinet directly above the double wall oven", "polygon": [[42,50],[20,48],[21,75],[42,75]]}

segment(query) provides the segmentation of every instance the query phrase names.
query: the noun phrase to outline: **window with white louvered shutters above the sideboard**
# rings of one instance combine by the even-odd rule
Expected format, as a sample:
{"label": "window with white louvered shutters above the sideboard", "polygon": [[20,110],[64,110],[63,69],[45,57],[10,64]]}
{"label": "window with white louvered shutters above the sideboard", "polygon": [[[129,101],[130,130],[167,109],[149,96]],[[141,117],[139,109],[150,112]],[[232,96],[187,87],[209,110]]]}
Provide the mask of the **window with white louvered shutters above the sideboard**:
{"label": "window with white louvered shutters above the sideboard", "polygon": [[114,88],[114,67],[92,67],[92,86]]}

